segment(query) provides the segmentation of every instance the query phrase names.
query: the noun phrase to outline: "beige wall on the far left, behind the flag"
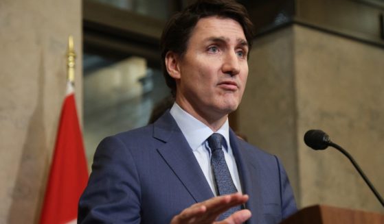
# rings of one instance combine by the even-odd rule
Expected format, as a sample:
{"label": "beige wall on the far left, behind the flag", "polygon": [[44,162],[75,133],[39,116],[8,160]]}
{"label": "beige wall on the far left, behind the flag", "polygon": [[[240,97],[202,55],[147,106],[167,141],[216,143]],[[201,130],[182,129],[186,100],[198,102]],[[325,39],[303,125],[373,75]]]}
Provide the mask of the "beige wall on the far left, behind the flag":
{"label": "beige wall on the far left, behind the flag", "polygon": [[69,34],[81,109],[81,1],[0,1],[0,27],[0,223],[34,223],[65,97]]}

